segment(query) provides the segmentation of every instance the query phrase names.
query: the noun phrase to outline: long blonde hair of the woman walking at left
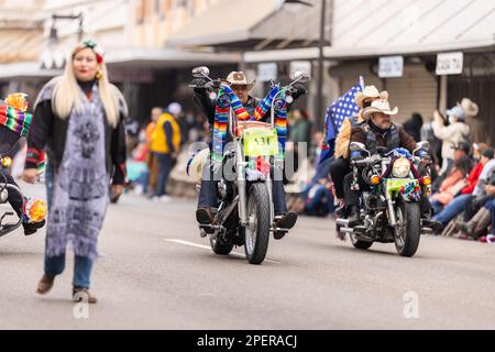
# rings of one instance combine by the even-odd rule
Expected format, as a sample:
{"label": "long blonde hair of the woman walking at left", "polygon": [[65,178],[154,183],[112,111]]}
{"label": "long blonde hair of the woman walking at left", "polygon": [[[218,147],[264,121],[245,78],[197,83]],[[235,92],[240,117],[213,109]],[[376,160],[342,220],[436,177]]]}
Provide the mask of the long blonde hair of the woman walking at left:
{"label": "long blonde hair of the woman walking at left", "polygon": [[[80,44],[73,51],[70,62],[65,65],[65,73],[57,80],[53,90],[52,109],[59,119],[67,119],[70,116],[73,108],[76,109],[76,111],[79,111],[82,106],[82,100],[87,99],[86,96],[80,92],[73,67],[74,56],[85,48],[87,48],[87,46]],[[121,99],[123,100],[123,97],[119,89],[110,84],[105,62],[99,65],[102,74],[98,79],[98,90],[101,103],[108,123],[116,128],[120,119],[119,101]]]}

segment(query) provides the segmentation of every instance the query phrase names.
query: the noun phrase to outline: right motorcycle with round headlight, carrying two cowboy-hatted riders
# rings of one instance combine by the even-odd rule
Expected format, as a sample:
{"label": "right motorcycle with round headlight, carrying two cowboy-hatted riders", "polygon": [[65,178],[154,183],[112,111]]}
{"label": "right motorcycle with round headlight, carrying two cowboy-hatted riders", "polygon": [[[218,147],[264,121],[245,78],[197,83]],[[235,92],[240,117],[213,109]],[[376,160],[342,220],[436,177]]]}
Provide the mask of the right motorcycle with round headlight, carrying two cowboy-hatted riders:
{"label": "right motorcycle with round headlight, carrying two cowboy-hatted riders", "polygon": [[[397,253],[411,257],[416,254],[421,233],[431,232],[421,221],[421,195],[430,193],[431,176],[429,165],[417,155],[428,151],[429,142],[420,142],[410,154],[396,148],[389,153],[378,148],[371,155],[365,145],[352,142],[352,152],[367,154],[364,160],[353,161],[354,175],[361,173],[370,185],[361,195],[361,223],[349,228],[349,220],[337,219],[337,231],[349,234],[354,248],[370,249],[374,242],[395,243]],[[356,186],[356,180],[353,183]]]}

